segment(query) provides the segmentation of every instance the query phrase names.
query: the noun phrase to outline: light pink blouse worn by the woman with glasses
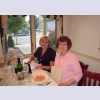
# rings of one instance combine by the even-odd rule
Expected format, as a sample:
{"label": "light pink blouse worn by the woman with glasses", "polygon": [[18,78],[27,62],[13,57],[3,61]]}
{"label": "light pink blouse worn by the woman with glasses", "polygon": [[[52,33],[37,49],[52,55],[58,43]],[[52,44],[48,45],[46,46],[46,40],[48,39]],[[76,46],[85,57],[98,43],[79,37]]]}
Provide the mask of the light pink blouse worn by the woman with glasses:
{"label": "light pink blouse worn by the woman with glasses", "polygon": [[73,53],[68,51],[65,56],[60,56],[60,53],[58,53],[54,65],[62,68],[61,83],[67,82],[73,78],[76,83],[72,85],[78,85],[83,74],[79,61]]}

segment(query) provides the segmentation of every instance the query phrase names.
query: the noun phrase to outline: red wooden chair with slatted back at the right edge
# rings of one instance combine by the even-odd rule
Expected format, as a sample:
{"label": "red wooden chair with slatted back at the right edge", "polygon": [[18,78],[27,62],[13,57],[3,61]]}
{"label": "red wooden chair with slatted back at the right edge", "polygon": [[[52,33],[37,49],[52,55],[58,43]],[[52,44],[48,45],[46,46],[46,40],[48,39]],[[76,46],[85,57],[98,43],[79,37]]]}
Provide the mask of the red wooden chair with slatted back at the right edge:
{"label": "red wooden chair with slatted back at the right edge", "polygon": [[100,86],[100,73],[85,70],[83,86]]}

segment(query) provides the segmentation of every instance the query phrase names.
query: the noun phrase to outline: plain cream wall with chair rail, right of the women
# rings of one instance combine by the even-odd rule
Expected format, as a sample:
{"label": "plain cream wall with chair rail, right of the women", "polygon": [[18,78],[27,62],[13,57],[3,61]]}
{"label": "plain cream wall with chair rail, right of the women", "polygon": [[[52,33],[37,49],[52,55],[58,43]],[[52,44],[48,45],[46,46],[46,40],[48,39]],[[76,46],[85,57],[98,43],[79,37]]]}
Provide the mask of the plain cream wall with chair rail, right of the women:
{"label": "plain cream wall with chair rail, right of the women", "polygon": [[100,72],[100,15],[65,15],[64,35],[72,40],[71,50],[79,60]]}

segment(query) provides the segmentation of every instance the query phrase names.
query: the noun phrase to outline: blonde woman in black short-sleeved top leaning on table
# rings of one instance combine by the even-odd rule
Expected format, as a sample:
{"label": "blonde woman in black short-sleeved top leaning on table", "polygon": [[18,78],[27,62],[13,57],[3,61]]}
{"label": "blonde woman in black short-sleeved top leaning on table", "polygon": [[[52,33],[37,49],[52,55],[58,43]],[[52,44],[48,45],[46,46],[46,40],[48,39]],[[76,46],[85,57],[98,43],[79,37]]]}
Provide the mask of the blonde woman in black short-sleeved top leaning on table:
{"label": "blonde woman in black short-sleeved top leaning on table", "polygon": [[40,47],[38,47],[36,52],[30,56],[28,63],[31,63],[32,60],[36,57],[38,63],[41,64],[36,66],[36,68],[50,72],[51,66],[54,65],[56,56],[56,52],[50,47],[50,43],[51,41],[48,36],[42,36],[39,41]]}

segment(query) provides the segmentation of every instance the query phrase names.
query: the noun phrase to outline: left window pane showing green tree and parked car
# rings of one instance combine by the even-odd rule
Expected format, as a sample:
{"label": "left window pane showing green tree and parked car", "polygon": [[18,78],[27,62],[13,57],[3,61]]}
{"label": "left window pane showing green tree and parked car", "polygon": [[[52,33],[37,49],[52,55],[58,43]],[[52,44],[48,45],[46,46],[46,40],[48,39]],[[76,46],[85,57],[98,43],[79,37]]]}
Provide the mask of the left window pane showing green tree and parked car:
{"label": "left window pane showing green tree and parked car", "polygon": [[8,50],[17,47],[24,54],[31,54],[30,18],[9,17],[7,21],[7,47]]}

